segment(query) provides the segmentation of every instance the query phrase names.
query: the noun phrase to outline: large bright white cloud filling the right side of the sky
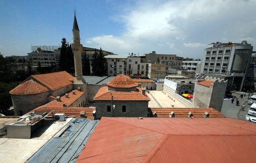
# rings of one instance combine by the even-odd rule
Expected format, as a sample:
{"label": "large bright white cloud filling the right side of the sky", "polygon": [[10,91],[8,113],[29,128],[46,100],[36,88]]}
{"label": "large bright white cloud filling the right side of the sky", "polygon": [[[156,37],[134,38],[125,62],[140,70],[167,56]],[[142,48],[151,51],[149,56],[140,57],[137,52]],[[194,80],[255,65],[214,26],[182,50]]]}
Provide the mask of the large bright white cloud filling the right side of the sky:
{"label": "large bright white cloud filling the right side of the sky", "polygon": [[136,1],[123,7],[115,19],[124,24],[124,32],[88,39],[90,46],[120,54],[156,51],[201,58],[212,42],[248,39],[256,45],[256,1]]}

